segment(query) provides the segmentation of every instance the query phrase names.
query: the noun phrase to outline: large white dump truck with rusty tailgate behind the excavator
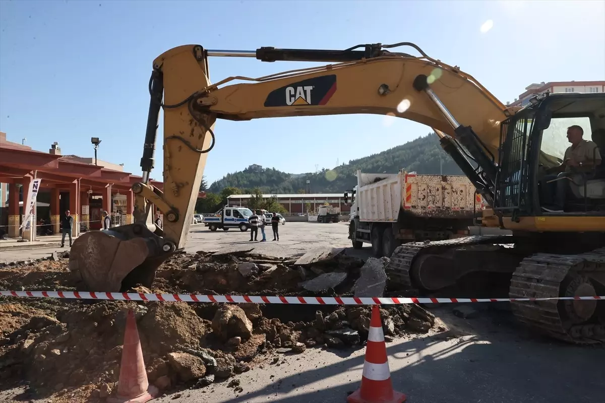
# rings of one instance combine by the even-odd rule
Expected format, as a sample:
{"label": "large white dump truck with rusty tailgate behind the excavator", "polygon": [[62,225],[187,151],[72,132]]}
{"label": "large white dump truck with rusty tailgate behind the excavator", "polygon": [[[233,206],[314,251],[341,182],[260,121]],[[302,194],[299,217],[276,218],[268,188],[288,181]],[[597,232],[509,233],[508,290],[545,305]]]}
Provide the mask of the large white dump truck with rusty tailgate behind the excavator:
{"label": "large white dump truck with rusty tailgate behind the excavator", "polygon": [[344,193],[351,206],[349,239],[353,248],[372,245],[376,257],[391,257],[402,243],[468,236],[480,216],[482,198],[462,175],[415,172],[364,173]]}

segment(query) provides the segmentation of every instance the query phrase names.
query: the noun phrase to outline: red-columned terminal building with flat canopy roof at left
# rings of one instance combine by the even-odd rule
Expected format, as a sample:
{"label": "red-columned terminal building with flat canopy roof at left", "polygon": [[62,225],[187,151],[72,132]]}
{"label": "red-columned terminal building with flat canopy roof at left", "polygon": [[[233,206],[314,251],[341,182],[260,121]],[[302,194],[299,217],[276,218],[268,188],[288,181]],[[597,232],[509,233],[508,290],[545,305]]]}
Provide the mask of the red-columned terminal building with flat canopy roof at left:
{"label": "red-columned terminal building with flat canopy roof at left", "polygon": [[[34,179],[41,179],[34,208],[36,225],[20,229],[25,218],[23,204]],[[8,141],[6,134],[0,132],[0,233],[27,240],[59,234],[60,217],[66,210],[74,218],[72,236],[99,230],[103,210],[110,213],[113,226],[132,224],[131,186],[141,180],[141,176],[124,172],[122,165],[62,155],[56,142],[48,152],[40,152]],[[162,182],[150,183],[163,189]],[[204,197],[204,193],[198,197]]]}

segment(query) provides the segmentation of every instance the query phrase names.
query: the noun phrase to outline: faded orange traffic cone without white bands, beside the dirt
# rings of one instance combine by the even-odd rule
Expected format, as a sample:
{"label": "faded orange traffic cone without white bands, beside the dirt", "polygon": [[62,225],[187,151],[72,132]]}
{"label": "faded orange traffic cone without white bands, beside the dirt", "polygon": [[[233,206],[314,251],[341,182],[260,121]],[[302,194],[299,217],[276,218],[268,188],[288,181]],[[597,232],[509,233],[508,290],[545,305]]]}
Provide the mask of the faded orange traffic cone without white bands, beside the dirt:
{"label": "faded orange traffic cone without white bands, beside the dirt", "polygon": [[147,380],[137,322],[132,311],[128,311],[117,395],[107,401],[108,403],[144,403],[153,399],[157,392],[157,388],[149,385]]}

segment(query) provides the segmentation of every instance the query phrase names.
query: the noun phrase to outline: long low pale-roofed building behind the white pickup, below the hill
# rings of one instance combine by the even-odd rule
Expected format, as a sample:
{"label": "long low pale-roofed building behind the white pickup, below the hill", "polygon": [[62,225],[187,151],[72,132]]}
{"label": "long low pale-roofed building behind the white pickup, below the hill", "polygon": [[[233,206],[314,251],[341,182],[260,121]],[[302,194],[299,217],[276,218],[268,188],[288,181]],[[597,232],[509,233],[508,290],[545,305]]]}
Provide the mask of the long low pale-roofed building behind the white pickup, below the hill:
{"label": "long low pale-roofed building behind the white pickup, below the hill", "polygon": [[[231,195],[227,197],[227,204],[229,206],[244,206],[246,207],[248,199],[252,195]],[[333,207],[340,207],[341,213],[348,213],[350,206],[344,203],[344,192],[343,193],[315,193],[315,194],[301,194],[295,193],[292,195],[263,195],[264,199],[270,199],[276,196],[278,201],[289,214],[302,214],[307,213],[307,208],[311,211],[317,211],[319,206],[324,205],[326,202],[330,203]]]}

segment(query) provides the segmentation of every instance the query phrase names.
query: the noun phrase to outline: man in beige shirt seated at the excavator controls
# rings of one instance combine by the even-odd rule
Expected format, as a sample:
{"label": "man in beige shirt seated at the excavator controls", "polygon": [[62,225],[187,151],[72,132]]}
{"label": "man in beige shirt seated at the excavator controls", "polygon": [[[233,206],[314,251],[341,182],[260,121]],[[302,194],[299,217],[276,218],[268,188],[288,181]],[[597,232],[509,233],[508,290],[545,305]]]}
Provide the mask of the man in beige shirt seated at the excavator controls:
{"label": "man in beige shirt seated at the excavator controls", "polygon": [[543,178],[544,195],[542,209],[551,213],[562,213],[569,189],[569,179],[584,184],[586,173],[601,164],[601,155],[594,141],[583,138],[584,129],[577,124],[567,127],[567,147],[563,162],[546,170]]}

